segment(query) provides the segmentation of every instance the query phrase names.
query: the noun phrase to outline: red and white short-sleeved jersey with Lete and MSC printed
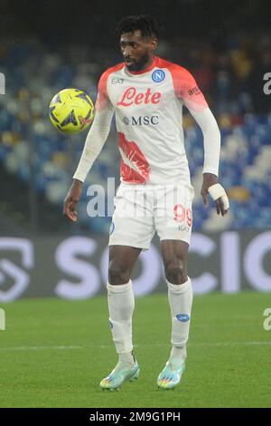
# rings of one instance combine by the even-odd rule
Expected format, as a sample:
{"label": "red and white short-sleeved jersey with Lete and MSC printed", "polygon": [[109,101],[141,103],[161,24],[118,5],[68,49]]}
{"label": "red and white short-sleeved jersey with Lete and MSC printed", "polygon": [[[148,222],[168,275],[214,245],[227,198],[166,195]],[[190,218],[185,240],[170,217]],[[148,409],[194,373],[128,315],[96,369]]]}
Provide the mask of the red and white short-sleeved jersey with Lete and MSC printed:
{"label": "red and white short-sleeved jersey with Lete and MSC printed", "polygon": [[122,181],[190,183],[183,104],[192,114],[208,108],[192,74],[157,56],[141,72],[119,63],[102,74],[96,108],[116,112]]}

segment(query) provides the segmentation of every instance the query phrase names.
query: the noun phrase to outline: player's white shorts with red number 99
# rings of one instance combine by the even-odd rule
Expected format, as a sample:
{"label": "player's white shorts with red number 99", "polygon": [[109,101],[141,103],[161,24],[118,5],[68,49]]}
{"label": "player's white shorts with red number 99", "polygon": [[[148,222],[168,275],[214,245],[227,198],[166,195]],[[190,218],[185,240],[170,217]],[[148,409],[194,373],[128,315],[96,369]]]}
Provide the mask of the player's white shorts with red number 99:
{"label": "player's white shorts with red number 99", "polygon": [[115,211],[109,246],[147,250],[157,232],[160,240],[190,243],[194,189],[183,185],[133,185],[121,183],[114,198]]}

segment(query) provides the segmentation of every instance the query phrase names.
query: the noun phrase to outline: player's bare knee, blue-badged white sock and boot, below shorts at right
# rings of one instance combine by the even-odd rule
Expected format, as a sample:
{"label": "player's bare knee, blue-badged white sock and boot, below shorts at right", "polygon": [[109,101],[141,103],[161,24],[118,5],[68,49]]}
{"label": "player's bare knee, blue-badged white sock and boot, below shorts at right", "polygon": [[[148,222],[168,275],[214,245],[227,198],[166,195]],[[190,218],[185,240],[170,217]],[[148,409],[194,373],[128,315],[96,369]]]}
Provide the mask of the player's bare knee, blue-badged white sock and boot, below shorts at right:
{"label": "player's bare knee, blue-badged white sock and boot, below shorts at right", "polygon": [[170,389],[180,382],[184,370],[192,309],[192,283],[187,276],[188,243],[163,240],[161,246],[172,315],[173,347],[157,383],[161,388]]}

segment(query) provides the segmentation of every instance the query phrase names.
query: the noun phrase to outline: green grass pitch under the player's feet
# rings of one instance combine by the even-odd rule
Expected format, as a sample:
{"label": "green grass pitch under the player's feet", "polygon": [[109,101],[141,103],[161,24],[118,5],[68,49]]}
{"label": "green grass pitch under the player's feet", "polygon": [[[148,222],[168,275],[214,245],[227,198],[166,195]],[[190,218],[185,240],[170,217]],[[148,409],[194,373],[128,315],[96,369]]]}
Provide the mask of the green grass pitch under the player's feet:
{"label": "green grass pitch under the player's feet", "polygon": [[117,362],[107,298],[20,300],[0,331],[0,407],[270,407],[271,297],[254,292],[195,296],[186,371],[173,391],[156,378],[170,352],[166,294],[137,298],[135,355],[141,374],[119,392],[100,380]]}

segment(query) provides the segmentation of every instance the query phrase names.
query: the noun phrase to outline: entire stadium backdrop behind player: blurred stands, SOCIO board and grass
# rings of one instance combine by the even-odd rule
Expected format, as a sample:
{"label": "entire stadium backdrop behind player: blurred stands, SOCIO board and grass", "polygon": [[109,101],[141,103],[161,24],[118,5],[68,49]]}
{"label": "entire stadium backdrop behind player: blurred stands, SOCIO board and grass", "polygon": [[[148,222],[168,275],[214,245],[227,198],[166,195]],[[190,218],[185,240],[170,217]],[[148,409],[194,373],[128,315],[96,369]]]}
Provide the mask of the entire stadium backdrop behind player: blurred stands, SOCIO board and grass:
{"label": "entire stadium backdrop behind player: blurred stands, SOCIO board and grass", "polygon": [[[1,0],[0,407],[270,407],[269,2],[100,3]],[[121,61],[117,21],[138,13],[157,18],[157,53],[187,67],[210,102],[231,210],[221,220],[202,206],[201,131],[185,113],[197,294],[187,372],[174,392],[156,391],[171,326],[156,239],[134,275],[143,295],[133,319],[142,374],[108,394],[98,383],[116,361],[104,286],[110,220],[88,218],[86,191],[94,183],[107,191],[107,177],[118,179],[115,127],[71,224],[62,201],[86,134],[55,131],[48,104],[67,86],[96,98],[100,73]]]}

